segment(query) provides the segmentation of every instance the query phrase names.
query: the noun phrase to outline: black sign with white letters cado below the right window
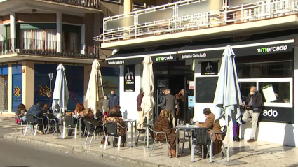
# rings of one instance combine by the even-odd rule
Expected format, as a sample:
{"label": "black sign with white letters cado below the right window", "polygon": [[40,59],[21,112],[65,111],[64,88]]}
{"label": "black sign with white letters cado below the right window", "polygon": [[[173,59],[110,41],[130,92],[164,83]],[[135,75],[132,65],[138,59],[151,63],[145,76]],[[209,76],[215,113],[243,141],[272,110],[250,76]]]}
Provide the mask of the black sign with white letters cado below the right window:
{"label": "black sign with white letters cado below the right window", "polygon": [[264,106],[259,121],[294,124],[294,109]]}

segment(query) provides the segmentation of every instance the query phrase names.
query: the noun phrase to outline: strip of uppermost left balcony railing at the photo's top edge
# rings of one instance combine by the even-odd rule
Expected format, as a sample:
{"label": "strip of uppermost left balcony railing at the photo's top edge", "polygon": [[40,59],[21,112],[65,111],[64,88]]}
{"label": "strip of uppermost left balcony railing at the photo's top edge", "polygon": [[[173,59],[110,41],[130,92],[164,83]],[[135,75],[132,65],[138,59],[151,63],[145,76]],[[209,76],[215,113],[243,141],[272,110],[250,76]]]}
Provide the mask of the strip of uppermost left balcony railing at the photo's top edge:
{"label": "strip of uppermost left balcony railing at the photo's top edge", "polygon": [[44,0],[44,1],[53,1],[58,3],[74,5],[74,6],[100,9],[100,0]]}

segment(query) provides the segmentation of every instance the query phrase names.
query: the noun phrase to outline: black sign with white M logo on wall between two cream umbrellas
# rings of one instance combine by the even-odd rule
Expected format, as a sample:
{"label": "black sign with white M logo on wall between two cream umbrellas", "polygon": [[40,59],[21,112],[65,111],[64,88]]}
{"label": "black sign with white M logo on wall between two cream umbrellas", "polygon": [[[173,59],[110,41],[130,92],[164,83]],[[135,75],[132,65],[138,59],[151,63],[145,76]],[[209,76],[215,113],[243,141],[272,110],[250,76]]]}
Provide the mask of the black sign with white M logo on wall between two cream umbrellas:
{"label": "black sign with white M logo on wall between two cream umbrellas", "polygon": [[135,65],[124,66],[124,92],[135,92]]}

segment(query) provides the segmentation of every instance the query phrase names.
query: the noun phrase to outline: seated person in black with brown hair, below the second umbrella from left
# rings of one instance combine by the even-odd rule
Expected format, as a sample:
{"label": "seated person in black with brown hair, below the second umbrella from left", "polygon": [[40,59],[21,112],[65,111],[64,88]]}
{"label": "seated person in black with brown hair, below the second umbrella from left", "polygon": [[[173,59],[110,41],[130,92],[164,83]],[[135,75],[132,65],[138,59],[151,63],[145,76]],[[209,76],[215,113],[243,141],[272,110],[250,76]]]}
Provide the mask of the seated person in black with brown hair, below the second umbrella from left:
{"label": "seated person in black with brown hair, below the second umbrella from left", "polygon": [[[98,113],[98,112],[97,112]],[[103,126],[102,126],[102,118],[104,115],[102,115],[102,112],[100,112],[101,115],[99,117],[97,117],[97,119],[94,118],[94,114],[93,114],[93,110],[91,108],[87,108],[85,110],[85,115],[84,115],[84,120],[90,122],[91,124],[96,126],[96,130],[95,133],[99,133],[100,131],[103,131]],[[94,126],[91,127],[91,131],[93,132],[95,129]],[[104,129],[104,131],[107,131],[106,129]],[[102,139],[102,144],[104,144],[104,139]]]}

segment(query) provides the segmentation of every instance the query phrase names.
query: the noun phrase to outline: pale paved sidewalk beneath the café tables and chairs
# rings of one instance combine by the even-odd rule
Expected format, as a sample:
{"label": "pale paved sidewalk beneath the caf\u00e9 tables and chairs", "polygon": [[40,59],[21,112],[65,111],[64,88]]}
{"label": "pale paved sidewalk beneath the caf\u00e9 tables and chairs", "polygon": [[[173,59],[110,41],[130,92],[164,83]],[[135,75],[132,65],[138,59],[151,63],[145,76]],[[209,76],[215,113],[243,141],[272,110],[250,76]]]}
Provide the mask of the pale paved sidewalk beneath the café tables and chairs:
{"label": "pale paved sidewalk beneath the caf\u00e9 tables and chairs", "polygon": [[[182,134],[180,135],[181,138]],[[107,161],[116,161],[119,164],[128,164],[130,166],[226,166],[217,164],[217,161],[224,161],[225,157],[222,154],[217,154],[214,157],[214,162],[210,164],[207,159],[200,159],[195,156],[195,162],[191,163],[191,156],[189,151],[189,144],[185,143],[185,152],[183,157],[170,158],[167,157],[167,150],[165,145],[158,145],[154,154],[149,158],[150,148],[144,150],[142,141],[139,141],[138,147],[128,148],[121,147],[117,150],[116,147],[107,147],[104,150],[100,144],[100,138],[93,140],[91,147],[88,146],[90,138],[86,146],[84,145],[86,138],[76,138],[73,136],[68,139],[57,139],[57,135],[53,134],[31,136],[27,131],[26,136],[22,136],[20,132],[14,134],[10,133],[4,136],[7,140],[16,140],[22,143],[29,143],[32,145],[39,145],[42,147],[49,147],[57,150],[63,150],[65,152],[73,152],[75,154],[86,154],[88,156],[97,157]],[[135,139],[135,136],[133,140]],[[140,136],[140,140],[144,137]],[[180,139],[182,141],[183,139]],[[130,132],[128,134],[128,142],[130,143]],[[180,143],[180,148],[182,143]],[[180,150],[181,152],[181,150]],[[278,145],[266,142],[255,142],[247,143],[241,141],[240,143],[230,143],[230,157],[231,161],[237,159],[238,161],[245,162],[245,164],[235,166],[262,166],[262,167],[273,167],[273,166],[285,166],[295,167],[298,166],[298,148],[287,147],[284,145]]]}

